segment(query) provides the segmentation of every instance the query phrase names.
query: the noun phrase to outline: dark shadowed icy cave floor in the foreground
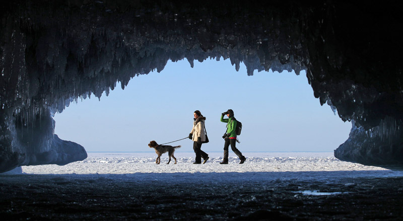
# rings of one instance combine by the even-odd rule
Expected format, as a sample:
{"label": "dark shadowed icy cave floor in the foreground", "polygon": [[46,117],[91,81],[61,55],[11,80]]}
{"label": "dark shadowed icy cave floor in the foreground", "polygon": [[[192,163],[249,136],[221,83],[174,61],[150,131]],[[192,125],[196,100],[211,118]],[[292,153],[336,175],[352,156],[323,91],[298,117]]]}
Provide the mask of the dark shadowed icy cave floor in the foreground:
{"label": "dark shadowed icy cave floor in the foreground", "polygon": [[[242,174],[240,174],[242,176]],[[401,220],[403,177],[0,175],[2,220]],[[172,177],[172,176],[171,176]]]}

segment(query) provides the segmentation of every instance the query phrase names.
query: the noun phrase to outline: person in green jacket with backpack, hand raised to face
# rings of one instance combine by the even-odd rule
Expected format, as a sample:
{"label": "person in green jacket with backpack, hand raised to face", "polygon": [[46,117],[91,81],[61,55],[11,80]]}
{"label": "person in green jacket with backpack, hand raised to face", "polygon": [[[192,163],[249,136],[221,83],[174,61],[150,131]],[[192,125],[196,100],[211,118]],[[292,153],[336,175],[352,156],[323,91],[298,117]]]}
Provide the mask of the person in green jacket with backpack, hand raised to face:
{"label": "person in green jacket with backpack, hand raised to face", "polygon": [[[224,119],[224,115],[228,116],[228,119]],[[228,164],[228,148],[231,145],[231,150],[239,157],[239,164],[243,164],[246,158],[242,155],[242,153],[236,148],[236,119],[234,117],[234,111],[231,109],[221,114],[221,122],[227,123],[227,131],[224,134],[223,138],[225,139],[224,143],[224,159],[220,164]]]}

